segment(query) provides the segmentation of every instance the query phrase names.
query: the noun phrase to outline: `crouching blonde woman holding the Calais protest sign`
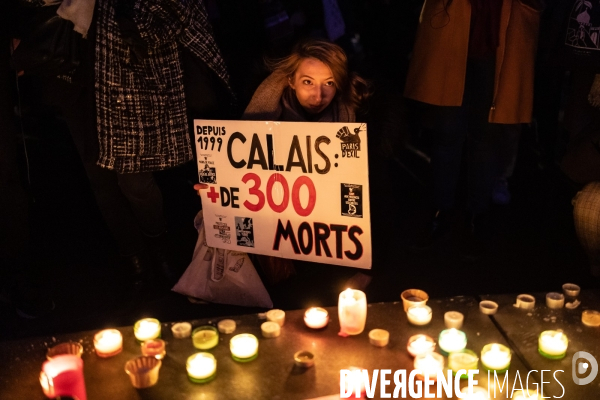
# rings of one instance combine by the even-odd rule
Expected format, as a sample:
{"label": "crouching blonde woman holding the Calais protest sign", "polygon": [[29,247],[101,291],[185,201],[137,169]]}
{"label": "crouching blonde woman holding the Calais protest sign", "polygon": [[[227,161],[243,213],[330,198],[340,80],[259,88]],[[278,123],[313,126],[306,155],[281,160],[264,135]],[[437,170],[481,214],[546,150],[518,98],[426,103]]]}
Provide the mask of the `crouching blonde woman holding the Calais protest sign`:
{"label": "crouching blonde woman holding the Calais protest sign", "polygon": [[[272,73],[256,89],[242,119],[289,122],[356,122],[370,95],[367,82],[348,70],[347,57],[336,44],[310,39],[291,54],[269,62]],[[197,184],[194,189],[207,188]],[[292,260],[257,255],[271,283],[294,271]],[[347,285],[361,288],[371,277],[356,274]]]}

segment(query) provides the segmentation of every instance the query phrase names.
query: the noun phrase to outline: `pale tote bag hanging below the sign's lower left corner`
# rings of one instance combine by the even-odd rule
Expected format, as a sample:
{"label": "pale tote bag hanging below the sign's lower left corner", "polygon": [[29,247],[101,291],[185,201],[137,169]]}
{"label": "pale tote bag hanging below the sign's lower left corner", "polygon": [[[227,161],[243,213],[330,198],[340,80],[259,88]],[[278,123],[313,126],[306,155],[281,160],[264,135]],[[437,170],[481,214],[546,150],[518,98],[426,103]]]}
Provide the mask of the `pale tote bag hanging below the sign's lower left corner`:
{"label": "pale tote bag hanging below the sign's lower left corner", "polygon": [[208,247],[202,211],[194,226],[198,230],[194,257],[172,290],[211,303],[272,308],[271,297],[248,254]]}

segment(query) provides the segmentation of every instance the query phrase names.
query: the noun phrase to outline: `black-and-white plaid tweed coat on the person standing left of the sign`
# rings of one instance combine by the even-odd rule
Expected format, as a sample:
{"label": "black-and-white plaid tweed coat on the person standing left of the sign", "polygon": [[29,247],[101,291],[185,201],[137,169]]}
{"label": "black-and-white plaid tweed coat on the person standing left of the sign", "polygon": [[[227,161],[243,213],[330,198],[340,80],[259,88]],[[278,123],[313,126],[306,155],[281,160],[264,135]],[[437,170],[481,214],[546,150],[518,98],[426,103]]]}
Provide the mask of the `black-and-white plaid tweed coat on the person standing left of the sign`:
{"label": "black-and-white plaid tweed coat on the person standing left of the sign", "polygon": [[96,1],[98,164],[137,173],[191,160],[178,44],[203,60],[229,88],[202,0],[129,1],[148,46],[148,57],[137,62],[116,22],[115,6],[123,0]]}

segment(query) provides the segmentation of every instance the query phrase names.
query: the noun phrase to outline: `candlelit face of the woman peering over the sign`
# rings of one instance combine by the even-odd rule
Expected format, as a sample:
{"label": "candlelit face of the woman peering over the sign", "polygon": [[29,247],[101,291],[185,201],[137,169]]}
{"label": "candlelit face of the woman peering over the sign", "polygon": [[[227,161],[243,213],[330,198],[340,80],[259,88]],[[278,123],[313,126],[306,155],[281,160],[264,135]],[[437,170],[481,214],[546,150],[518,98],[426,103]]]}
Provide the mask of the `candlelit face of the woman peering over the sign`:
{"label": "candlelit face of the woman peering over the sign", "polygon": [[331,69],[316,58],[302,60],[290,86],[296,92],[300,105],[310,114],[323,111],[335,96],[335,82]]}

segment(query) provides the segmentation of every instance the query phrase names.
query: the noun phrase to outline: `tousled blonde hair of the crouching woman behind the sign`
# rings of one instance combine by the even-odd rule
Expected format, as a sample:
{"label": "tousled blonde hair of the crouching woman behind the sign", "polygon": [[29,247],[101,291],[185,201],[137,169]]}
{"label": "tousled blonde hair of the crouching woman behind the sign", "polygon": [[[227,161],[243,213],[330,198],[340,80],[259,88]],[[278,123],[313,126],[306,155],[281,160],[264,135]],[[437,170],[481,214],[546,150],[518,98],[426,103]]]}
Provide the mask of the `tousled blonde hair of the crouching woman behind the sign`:
{"label": "tousled blonde hair of the crouching woman behind the sign", "polygon": [[271,71],[281,71],[293,81],[300,63],[307,58],[315,58],[331,69],[337,89],[336,96],[339,96],[344,104],[354,110],[364,106],[370,95],[369,84],[357,74],[348,71],[346,53],[337,44],[318,39],[301,41],[287,57],[267,60],[267,66]]}

